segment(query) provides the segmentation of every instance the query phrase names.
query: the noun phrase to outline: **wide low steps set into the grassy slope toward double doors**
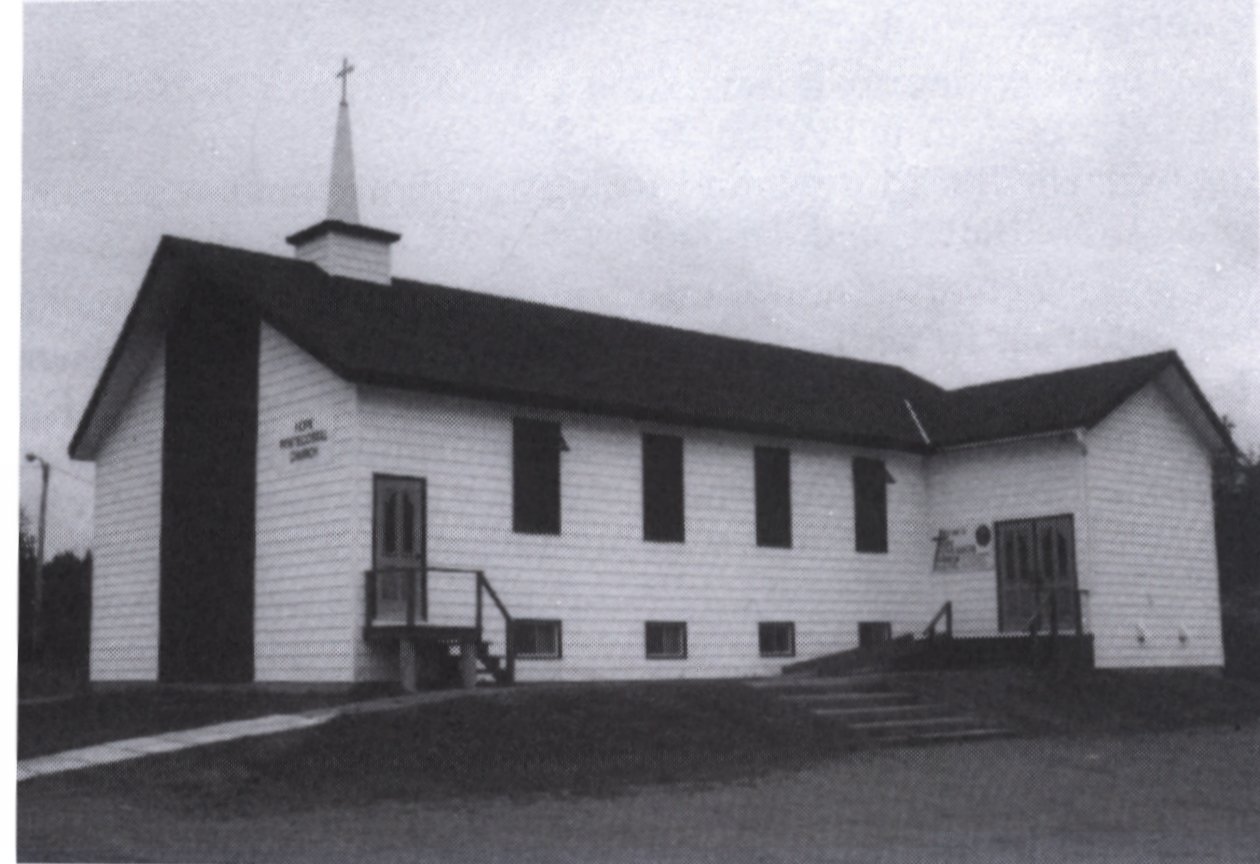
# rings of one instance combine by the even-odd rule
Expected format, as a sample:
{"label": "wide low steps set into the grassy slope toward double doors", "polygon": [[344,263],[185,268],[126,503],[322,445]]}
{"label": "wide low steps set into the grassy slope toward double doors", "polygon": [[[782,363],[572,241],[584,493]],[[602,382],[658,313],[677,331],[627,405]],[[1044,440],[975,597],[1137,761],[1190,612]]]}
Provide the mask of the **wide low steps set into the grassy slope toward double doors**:
{"label": "wide low steps set into the grassy slope toward double doors", "polygon": [[1013,734],[949,705],[920,700],[914,693],[897,688],[896,675],[785,675],[750,684],[804,705],[815,717],[844,725],[882,746],[983,741]]}

